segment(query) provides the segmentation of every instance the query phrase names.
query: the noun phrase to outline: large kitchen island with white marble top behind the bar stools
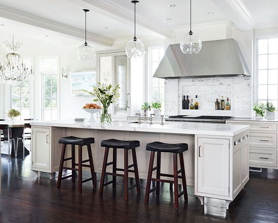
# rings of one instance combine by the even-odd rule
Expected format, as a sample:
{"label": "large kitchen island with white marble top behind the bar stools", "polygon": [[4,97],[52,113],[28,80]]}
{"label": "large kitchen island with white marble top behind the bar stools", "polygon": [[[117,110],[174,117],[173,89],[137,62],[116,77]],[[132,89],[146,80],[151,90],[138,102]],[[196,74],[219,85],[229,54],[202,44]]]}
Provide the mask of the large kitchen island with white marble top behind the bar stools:
{"label": "large kitchen island with white marble top behind the bar stools", "polygon": [[[40,171],[49,172],[52,177],[60,163],[62,147],[58,144],[58,138],[76,136],[95,138],[92,154],[96,172],[102,170],[102,140],[114,138],[140,141],[136,154],[141,179],[147,179],[150,159],[150,153],[146,151],[147,143],[187,143],[189,150],[184,153],[187,183],[195,186],[195,195],[202,204],[204,197],[211,197],[226,200],[228,208],[228,204],[249,180],[249,125],[193,122],[165,122],[164,125],[158,122],[150,125],[130,122],[115,120],[106,125],[63,120],[31,122],[32,170],[38,176]],[[122,168],[122,151],[118,153],[117,163]],[[161,171],[172,173],[171,154],[162,154]]]}

